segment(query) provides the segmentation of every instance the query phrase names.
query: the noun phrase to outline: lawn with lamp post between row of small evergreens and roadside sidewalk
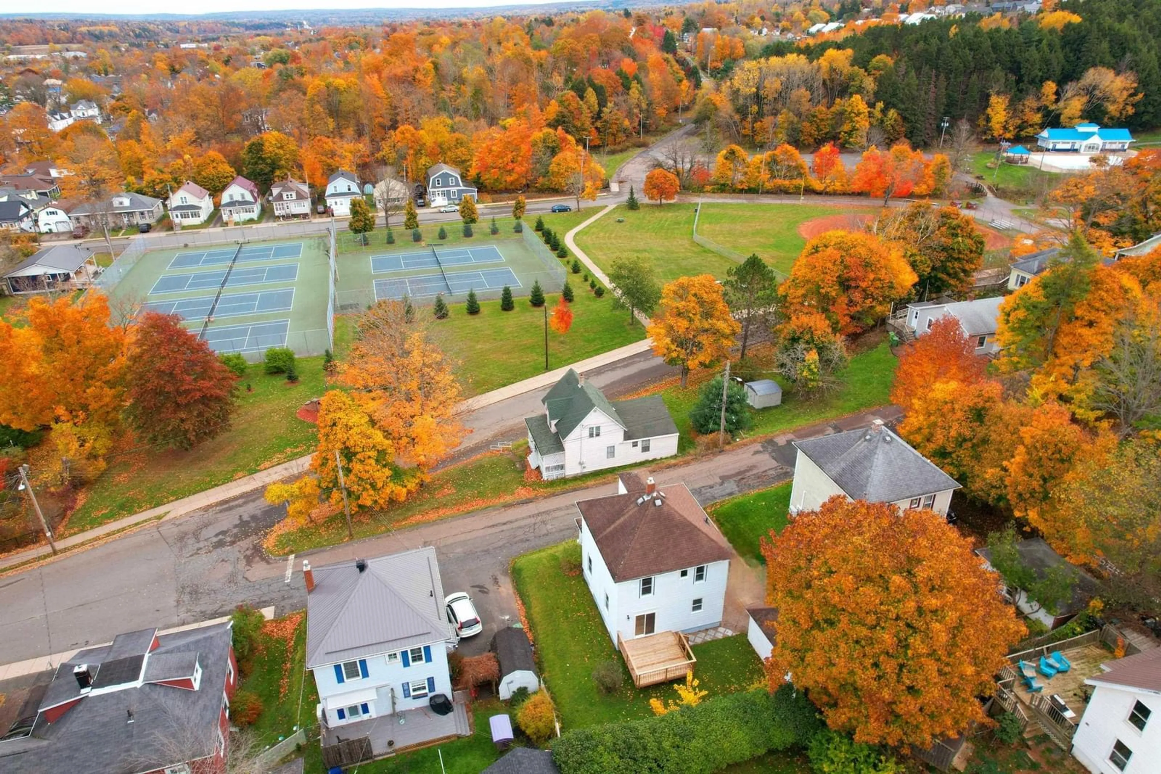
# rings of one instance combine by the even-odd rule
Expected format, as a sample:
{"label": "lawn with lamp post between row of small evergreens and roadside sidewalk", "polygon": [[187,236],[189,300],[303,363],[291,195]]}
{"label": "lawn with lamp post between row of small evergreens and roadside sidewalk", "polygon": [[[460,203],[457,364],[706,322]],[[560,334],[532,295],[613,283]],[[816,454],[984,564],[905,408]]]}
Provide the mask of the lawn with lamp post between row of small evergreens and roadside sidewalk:
{"label": "lawn with lamp post between row of small evergreens and roadside sidewalk", "polygon": [[[548,332],[549,369],[599,355],[646,337],[640,323],[632,323],[628,311],[613,308],[606,294],[597,298],[582,281],[570,274],[575,301],[572,327],[568,333]],[[560,288],[546,288],[546,308],[551,311]],[[545,371],[545,311],[517,298],[515,309],[500,311],[500,302],[479,303],[479,314],[469,316],[463,304],[450,304],[447,319],[435,323],[434,332],[444,350],[462,364],[456,369],[466,395],[479,395]],[[503,346],[497,346],[503,342]]]}

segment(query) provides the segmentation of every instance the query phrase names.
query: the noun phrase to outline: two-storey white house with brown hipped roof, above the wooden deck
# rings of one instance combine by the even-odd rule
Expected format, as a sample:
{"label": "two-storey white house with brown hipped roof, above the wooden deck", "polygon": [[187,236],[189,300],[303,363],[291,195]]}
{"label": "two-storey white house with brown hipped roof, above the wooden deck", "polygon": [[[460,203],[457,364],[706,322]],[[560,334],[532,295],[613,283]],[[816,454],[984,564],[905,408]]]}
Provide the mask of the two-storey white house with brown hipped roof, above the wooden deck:
{"label": "two-storey white house with brown hipped roof, above the wooden deck", "polygon": [[622,473],[618,493],[580,500],[582,572],[610,639],[721,624],[729,543],[685,484]]}

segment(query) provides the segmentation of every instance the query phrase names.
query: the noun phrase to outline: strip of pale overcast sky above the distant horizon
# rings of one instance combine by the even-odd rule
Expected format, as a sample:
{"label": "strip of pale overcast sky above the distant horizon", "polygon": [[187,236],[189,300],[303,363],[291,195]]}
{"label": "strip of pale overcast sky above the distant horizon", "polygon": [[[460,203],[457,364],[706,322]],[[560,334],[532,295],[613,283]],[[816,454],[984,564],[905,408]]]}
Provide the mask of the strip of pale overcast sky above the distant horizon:
{"label": "strip of pale overcast sky above the distant horizon", "polygon": [[[444,8],[485,8],[488,6],[545,5],[553,0],[446,0],[438,3]],[[212,14],[224,10],[291,10],[304,9],[342,9],[342,8],[431,8],[437,3],[424,0],[196,0],[188,6],[158,2],[158,0],[120,0],[114,6],[96,5],[93,0],[38,0],[28,10],[36,13],[71,13],[85,14],[99,12],[102,14],[180,14],[188,8],[196,8],[200,14]],[[3,3],[0,3],[2,7]],[[15,8],[7,9],[8,13]]]}

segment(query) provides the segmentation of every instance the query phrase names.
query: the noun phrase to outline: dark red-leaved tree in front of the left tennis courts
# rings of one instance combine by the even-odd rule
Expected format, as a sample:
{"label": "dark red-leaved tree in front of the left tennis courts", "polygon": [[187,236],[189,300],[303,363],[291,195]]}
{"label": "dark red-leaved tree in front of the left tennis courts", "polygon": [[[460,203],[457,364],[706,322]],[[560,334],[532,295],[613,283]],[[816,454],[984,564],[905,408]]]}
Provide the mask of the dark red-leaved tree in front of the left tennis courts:
{"label": "dark red-leaved tree in front of the left tennis courts", "polygon": [[129,420],[149,443],[192,449],[230,427],[238,377],[176,314],[137,319],[125,377]]}

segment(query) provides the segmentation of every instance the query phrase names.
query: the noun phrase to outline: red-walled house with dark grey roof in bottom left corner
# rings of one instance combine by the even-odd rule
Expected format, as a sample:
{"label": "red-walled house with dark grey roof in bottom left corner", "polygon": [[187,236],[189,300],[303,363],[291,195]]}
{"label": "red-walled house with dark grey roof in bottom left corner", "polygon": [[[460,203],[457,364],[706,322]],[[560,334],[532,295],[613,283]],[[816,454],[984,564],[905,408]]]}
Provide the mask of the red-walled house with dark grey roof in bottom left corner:
{"label": "red-walled house with dark grey roof in bottom left corner", "polygon": [[143,629],[78,651],[0,738],[0,772],[224,772],[232,638],[230,623]]}

